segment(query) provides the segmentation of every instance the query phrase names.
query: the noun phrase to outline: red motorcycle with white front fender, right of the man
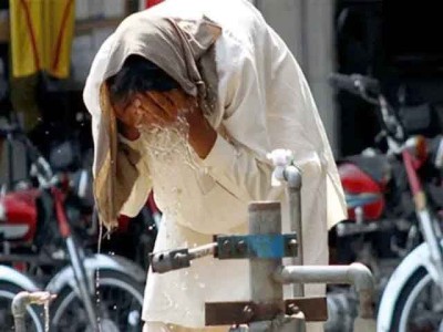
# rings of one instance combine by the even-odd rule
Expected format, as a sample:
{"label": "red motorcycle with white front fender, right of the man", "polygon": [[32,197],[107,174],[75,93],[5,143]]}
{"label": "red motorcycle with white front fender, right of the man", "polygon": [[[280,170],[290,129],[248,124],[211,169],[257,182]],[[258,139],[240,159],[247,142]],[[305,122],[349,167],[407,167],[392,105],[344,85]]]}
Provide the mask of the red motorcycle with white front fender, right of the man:
{"label": "red motorcycle with white front fender, right of the man", "polygon": [[[378,331],[442,331],[443,137],[418,135],[408,108],[392,107],[374,79],[332,74],[330,83],[374,105],[381,125],[380,148],[338,162],[349,220],[331,232],[331,263],[370,267]],[[327,330],[351,331],[337,315],[352,314],[353,299],[339,291],[329,294]]]}

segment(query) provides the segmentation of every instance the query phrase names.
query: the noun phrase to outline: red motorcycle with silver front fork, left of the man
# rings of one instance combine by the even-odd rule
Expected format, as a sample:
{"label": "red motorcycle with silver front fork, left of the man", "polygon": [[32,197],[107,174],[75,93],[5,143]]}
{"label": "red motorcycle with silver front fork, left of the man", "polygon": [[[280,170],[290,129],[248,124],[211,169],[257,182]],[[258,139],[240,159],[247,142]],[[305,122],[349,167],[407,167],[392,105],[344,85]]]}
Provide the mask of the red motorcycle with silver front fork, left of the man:
{"label": "red motorcycle with silver front fork, left of the man", "polygon": [[[84,238],[79,232],[87,230],[82,209],[89,170],[55,174],[19,126],[3,126],[0,135],[25,146],[38,184],[20,184],[0,197],[0,262],[31,274],[40,289],[56,294],[50,305],[51,331],[141,331],[146,272],[126,258],[94,255],[79,241]],[[63,154],[61,160],[68,165],[69,159],[69,153]],[[8,291],[2,287],[0,293]]]}

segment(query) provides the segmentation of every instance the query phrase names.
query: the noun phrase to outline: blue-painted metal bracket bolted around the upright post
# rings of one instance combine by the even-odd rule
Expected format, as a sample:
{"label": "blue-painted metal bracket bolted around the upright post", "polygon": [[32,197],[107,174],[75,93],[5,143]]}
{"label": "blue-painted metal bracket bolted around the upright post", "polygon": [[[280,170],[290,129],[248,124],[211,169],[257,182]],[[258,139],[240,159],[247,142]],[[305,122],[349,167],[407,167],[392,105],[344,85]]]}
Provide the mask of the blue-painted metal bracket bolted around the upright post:
{"label": "blue-painted metal bracket bolted around the upright post", "polygon": [[247,236],[215,236],[218,259],[279,259],[296,257],[298,252],[297,235],[269,234]]}

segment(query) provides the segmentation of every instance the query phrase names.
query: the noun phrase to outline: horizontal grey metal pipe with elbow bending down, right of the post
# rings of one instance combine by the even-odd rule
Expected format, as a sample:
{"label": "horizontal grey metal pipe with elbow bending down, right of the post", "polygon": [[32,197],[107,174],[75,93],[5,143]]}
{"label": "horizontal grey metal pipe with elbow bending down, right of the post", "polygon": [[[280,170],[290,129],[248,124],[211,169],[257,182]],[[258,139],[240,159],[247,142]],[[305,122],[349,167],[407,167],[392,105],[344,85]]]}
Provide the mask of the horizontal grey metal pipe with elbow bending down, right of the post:
{"label": "horizontal grey metal pipe with elbow bending down, right of the post", "polygon": [[360,297],[360,317],[373,318],[372,294],[374,280],[371,271],[361,263],[350,266],[288,266],[274,274],[281,283],[347,283],[353,284]]}

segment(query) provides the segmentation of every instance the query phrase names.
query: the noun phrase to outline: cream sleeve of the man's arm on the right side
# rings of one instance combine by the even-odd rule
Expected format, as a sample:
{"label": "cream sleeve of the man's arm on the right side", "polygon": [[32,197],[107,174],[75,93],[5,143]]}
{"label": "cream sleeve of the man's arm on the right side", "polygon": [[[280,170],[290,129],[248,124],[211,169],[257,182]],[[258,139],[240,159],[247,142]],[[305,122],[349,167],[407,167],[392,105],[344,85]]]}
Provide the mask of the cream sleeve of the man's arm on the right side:
{"label": "cream sleeve of the man's arm on the right side", "polygon": [[282,189],[271,187],[272,165],[266,157],[271,151],[266,97],[248,52],[237,59],[222,82],[227,86],[223,126],[231,139],[218,134],[203,163],[217,183],[244,203],[278,199]]}

